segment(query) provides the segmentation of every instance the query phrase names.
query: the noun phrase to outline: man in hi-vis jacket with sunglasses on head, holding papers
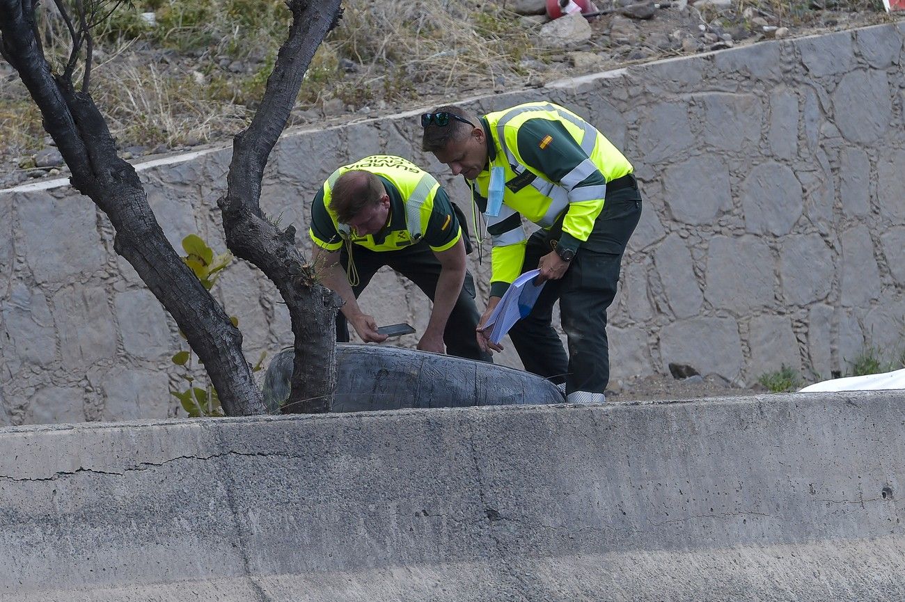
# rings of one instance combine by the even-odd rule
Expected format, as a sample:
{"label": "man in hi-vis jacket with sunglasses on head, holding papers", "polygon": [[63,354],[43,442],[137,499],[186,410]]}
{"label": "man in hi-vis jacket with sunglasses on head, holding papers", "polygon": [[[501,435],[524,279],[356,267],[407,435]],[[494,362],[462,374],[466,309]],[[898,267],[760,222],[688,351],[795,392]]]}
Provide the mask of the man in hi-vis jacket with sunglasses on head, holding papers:
{"label": "man in hi-vis jacket with sunglasses on head, holding papers", "polygon": [[[491,234],[491,298],[482,325],[520,273],[547,281],[510,330],[525,368],[566,383],[569,402],[605,400],[606,308],[641,217],[633,167],[597,129],[552,102],[482,117],[445,106],[421,116],[422,146],[462,174]],[[527,238],[521,218],[541,226]],[[559,300],[568,357],[551,325]],[[482,349],[501,350],[478,330]]]}

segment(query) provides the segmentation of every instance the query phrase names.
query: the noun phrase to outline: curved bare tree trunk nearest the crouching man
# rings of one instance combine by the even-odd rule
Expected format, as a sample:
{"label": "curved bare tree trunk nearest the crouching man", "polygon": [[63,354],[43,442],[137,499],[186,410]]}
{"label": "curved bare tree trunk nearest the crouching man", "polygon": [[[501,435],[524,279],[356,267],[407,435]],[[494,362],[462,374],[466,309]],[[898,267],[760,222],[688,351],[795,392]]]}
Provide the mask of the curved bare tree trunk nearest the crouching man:
{"label": "curved bare tree trunk nearest the crouching man", "polygon": [[295,245],[295,228],[280,230],[260,205],[264,166],[286,127],[311,57],[336,26],[340,0],[291,0],[289,39],[283,43],[261,108],[248,129],[233,141],[226,196],[218,201],[224,215],[226,244],[236,256],[256,265],[280,290],[295,335],[291,406],[300,412],[329,412],[336,388],[338,297],[316,281],[310,264]]}

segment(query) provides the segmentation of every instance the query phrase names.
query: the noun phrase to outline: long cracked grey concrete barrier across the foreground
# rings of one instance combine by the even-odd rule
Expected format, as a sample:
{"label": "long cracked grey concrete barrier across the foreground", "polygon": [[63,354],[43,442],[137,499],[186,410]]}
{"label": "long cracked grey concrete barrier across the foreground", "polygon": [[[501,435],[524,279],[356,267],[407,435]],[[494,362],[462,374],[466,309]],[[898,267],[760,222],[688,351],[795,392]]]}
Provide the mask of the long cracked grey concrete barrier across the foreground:
{"label": "long cracked grey concrete barrier across the foreground", "polygon": [[905,393],[0,430],[0,600],[905,598]]}

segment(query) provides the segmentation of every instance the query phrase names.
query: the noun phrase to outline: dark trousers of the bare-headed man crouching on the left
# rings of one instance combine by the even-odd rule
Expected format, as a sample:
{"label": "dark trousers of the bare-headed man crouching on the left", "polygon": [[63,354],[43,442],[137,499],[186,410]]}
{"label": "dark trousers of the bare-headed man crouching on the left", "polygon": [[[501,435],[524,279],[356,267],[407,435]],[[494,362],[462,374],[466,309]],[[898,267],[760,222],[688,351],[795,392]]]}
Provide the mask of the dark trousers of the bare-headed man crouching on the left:
{"label": "dark trousers of the bare-headed man crouching on the left", "polygon": [[[344,270],[348,268],[348,249],[343,246],[339,261]],[[358,284],[352,287],[355,298],[367,287],[374,274],[385,265],[401,273],[424,291],[431,301],[437,289],[442,266],[425,243],[416,243],[398,251],[371,251],[362,246],[352,247],[352,262],[358,272]],[[472,272],[465,272],[465,282],[459,299],[452,308],[446,329],[443,330],[443,343],[446,353],[459,358],[478,359],[492,362],[491,354],[481,351],[475,329],[478,328],[481,314],[474,304],[474,279]],[[337,340],[348,342],[348,321],[341,312],[337,313]]]}

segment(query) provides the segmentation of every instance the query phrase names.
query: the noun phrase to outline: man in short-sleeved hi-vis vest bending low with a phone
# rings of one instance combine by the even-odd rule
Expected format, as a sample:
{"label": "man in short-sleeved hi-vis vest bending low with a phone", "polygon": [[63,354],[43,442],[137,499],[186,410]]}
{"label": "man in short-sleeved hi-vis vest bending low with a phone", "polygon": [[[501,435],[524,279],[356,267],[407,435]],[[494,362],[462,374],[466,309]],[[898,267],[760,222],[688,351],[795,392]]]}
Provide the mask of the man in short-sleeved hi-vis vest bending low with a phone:
{"label": "man in short-sleeved hi-vis vest bending low with a phone", "polygon": [[[343,300],[337,340],[348,322],[365,342],[382,342],[357,297],[384,265],[414,282],[433,301],[418,349],[491,361],[472,334],[480,314],[465,269],[462,226],[437,181],[410,161],[375,155],[339,167],[311,204],[313,263]],[[347,321],[348,320],[348,321]]]}

